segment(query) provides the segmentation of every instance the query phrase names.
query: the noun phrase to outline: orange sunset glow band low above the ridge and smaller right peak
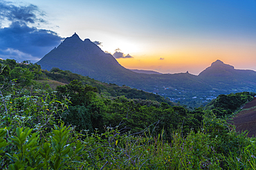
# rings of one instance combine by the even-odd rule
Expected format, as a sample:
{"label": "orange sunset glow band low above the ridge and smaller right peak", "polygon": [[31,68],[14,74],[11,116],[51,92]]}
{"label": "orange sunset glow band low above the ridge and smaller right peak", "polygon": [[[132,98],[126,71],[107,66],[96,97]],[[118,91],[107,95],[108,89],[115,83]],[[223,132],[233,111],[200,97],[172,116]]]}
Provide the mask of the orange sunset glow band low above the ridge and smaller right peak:
{"label": "orange sunset glow band low above the ridge and smaller right peak", "polygon": [[[225,49],[219,48],[212,49],[187,49],[183,51],[169,52],[168,54],[159,55],[134,55],[133,59],[118,59],[120,65],[128,69],[137,70],[154,70],[162,73],[180,73],[190,72],[191,74],[199,74],[205,68],[210,67],[211,63],[216,60],[221,60],[223,63],[233,65],[239,69],[251,69],[253,70],[254,65],[248,65],[248,61],[255,63],[252,57],[252,50],[244,52],[244,49]],[[131,56],[133,56],[131,54]],[[162,58],[162,60],[160,60]],[[241,58],[244,58],[244,64],[241,62]]]}

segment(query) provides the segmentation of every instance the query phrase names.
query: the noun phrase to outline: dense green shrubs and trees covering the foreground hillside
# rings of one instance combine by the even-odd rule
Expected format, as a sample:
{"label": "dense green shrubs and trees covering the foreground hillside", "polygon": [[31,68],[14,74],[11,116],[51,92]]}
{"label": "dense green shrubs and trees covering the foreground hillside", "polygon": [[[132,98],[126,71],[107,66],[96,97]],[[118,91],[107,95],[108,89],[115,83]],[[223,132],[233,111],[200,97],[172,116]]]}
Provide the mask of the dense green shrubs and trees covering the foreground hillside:
{"label": "dense green shrubs and trees covering the foreground hillside", "polygon": [[182,106],[126,85],[1,61],[1,169],[255,169],[228,118],[255,93]]}

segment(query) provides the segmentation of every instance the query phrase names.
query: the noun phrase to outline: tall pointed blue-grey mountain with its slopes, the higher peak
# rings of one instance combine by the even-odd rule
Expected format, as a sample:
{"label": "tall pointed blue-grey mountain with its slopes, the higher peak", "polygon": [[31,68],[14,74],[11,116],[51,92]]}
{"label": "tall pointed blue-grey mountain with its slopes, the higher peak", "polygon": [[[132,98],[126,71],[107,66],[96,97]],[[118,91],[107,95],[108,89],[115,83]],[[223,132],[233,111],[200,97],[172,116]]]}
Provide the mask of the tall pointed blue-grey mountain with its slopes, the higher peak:
{"label": "tall pointed blue-grey mountain with its slopes, the higher peak", "polygon": [[58,67],[105,82],[118,82],[126,75],[136,79],[136,73],[122,67],[111,54],[105,54],[89,39],[82,41],[77,34],[66,38],[37,64],[44,70]]}

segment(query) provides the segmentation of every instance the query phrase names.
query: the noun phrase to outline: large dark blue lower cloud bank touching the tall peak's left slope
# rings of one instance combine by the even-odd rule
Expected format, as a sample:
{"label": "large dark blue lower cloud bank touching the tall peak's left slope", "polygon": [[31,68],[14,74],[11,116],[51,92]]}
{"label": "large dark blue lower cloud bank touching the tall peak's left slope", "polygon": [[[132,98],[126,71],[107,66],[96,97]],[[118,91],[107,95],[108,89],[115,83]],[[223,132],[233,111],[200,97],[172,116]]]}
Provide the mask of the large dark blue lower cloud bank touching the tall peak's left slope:
{"label": "large dark blue lower cloud bank touching the tall peak's left slope", "polygon": [[35,58],[42,58],[61,41],[62,38],[51,30],[30,28],[19,22],[0,29],[0,50],[19,50]]}

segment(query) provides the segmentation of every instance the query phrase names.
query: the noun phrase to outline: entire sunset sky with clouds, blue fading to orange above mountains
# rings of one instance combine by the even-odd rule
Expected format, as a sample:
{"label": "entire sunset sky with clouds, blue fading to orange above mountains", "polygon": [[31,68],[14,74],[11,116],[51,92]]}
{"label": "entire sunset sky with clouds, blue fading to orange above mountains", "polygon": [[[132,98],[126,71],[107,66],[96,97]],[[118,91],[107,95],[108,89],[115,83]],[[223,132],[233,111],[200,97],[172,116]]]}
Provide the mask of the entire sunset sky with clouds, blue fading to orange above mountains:
{"label": "entire sunset sky with clouds, blue fading to orange above mountains", "polygon": [[74,33],[129,69],[256,71],[255,0],[0,0],[0,58],[42,59]]}

